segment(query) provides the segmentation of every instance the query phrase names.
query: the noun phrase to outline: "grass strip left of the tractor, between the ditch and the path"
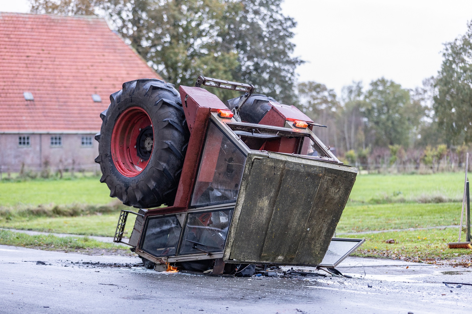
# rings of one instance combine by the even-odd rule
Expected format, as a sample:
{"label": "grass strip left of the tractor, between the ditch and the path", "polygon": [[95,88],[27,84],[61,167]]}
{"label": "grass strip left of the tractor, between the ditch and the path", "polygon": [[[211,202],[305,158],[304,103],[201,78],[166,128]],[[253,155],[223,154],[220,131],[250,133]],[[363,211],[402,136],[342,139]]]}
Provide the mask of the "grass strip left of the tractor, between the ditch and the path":
{"label": "grass strip left of the tractor, between the ditch and the path", "polygon": [[[113,214],[76,216],[76,217],[39,217],[1,219],[2,228],[34,230],[53,233],[71,233],[112,237],[117,228],[119,212]],[[129,237],[136,216],[128,215],[124,236]]]}

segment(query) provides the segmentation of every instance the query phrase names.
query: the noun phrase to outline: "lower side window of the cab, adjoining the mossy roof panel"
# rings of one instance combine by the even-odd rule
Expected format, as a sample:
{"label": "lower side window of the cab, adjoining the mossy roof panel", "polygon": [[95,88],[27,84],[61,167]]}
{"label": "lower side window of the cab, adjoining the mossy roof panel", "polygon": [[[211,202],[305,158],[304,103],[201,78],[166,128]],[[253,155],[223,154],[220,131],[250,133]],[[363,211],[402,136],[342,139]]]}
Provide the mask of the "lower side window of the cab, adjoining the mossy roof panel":
{"label": "lower side window of the cab, adjoining the mossy roof panel", "polygon": [[179,254],[222,251],[232,215],[233,209],[188,214]]}

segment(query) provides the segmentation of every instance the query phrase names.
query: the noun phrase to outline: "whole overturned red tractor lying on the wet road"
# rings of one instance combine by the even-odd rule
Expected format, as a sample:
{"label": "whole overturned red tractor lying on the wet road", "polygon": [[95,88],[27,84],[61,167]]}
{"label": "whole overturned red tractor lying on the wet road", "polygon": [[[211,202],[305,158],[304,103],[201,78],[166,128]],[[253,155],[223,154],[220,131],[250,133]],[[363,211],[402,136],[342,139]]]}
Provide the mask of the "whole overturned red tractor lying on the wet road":
{"label": "whole overturned red tractor lying on the wet road", "polygon": [[[244,94],[224,104],[201,86]],[[95,161],[110,196],[139,209],[122,210],[114,241],[132,246],[148,268],[332,269],[362,244],[332,238],[358,170],[315,136],[322,125],[253,90],[200,76],[179,91],[130,81],[110,96]],[[130,213],[137,217],[124,242]]]}

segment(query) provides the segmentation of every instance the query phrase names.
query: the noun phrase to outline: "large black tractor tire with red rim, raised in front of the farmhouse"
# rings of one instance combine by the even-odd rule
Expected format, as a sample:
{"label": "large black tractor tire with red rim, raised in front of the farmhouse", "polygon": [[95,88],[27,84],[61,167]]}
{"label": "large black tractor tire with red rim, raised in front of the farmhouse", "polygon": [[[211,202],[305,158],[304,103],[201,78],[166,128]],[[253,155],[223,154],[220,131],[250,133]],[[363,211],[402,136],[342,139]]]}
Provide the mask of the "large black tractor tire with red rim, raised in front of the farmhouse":
{"label": "large black tractor tire with red rim, raised in front of the farmhouse", "polygon": [[123,84],[100,114],[101,179],[110,196],[136,208],[172,205],[189,132],[179,93],[157,79]]}

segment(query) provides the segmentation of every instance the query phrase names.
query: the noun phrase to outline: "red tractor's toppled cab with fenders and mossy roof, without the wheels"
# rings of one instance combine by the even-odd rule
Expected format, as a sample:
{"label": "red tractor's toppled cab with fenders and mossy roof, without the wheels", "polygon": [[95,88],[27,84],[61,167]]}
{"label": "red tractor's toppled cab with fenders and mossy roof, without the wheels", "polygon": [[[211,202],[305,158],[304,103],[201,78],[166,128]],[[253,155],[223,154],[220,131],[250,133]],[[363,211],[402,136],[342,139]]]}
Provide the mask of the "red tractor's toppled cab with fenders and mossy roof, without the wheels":
{"label": "red tractor's toppled cab with fenders and mossy roof, without the wheels", "polygon": [[[244,95],[225,105],[202,85]],[[122,236],[135,213],[123,210],[115,242],[156,270],[214,274],[227,264],[334,268],[362,244],[333,238],[358,170],[340,162],[313,132],[323,126],[294,106],[270,100],[258,123],[245,121],[239,113],[252,92],[206,77],[180,86],[190,138],[175,199],[140,209],[129,242]]]}

